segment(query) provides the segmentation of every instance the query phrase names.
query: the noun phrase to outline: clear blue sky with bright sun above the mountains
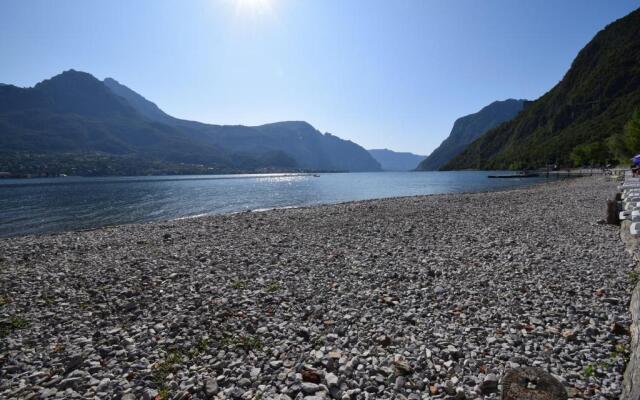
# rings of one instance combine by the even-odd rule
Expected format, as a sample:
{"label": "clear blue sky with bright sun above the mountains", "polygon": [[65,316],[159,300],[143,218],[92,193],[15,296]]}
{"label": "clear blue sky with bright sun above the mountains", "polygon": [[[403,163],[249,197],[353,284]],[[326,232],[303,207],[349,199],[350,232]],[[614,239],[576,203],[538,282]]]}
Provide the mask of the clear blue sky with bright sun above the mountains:
{"label": "clear blue sky with bright sun above the mountains", "polygon": [[2,0],[0,82],[113,77],[177,117],[306,120],[431,152],[454,120],[535,99],[640,0]]}

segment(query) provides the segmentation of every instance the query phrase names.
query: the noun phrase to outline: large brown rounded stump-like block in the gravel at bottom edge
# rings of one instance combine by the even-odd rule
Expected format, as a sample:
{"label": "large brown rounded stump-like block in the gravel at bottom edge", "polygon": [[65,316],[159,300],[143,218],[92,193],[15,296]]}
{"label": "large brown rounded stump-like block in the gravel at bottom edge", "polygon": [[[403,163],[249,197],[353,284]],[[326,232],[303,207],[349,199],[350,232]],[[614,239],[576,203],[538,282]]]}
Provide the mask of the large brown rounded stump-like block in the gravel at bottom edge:
{"label": "large brown rounded stump-like block in the gravel at bottom edge", "polygon": [[551,374],[532,367],[516,368],[502,379],[502,400],[567,400],[564,386]]}

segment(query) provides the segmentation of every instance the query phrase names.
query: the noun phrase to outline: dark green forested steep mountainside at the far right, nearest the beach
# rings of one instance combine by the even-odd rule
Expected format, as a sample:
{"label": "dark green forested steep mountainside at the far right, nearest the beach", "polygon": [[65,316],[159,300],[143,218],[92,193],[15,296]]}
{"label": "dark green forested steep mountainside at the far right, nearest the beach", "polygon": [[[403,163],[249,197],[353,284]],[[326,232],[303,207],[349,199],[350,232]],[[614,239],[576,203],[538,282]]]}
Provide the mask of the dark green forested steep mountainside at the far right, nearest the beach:
{"label": "dark green forested steep mountainside at the far right, nearest the beach", "polygon": [[569,163],[576,146],[620,132],[640,106],[640,9],[600,31],[564,78],[512,121],[469,145],[446,169]]}

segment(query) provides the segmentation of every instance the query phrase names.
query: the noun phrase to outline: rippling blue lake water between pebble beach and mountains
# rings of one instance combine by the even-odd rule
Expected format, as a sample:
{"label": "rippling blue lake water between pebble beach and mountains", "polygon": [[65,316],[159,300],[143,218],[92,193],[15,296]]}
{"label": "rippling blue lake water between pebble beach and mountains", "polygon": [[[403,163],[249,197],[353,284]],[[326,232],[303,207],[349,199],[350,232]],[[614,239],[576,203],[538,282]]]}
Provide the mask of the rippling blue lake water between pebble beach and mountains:
{"label": "rippling blue lake water between pebble beach and mountains", "polygon": [[3,179],[0,236],[274,207],[496,190],[542,180],[489,179],[482,171]]}

